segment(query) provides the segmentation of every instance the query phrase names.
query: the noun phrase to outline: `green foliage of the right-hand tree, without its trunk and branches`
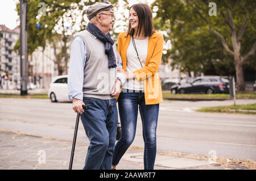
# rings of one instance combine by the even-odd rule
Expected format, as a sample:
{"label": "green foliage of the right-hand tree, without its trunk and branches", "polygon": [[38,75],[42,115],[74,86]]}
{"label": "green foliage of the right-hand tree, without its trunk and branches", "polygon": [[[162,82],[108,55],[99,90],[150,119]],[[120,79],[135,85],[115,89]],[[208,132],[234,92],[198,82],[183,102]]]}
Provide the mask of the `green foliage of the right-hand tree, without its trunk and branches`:
{"label": "green foliage of the right-hand tree, without its trunk and branches", "polygon": [[[166,31],[165,40],[171,40],[172,44],[163,59],[167,62],[172,58],[171,65],[183,68],[181,71],[234,74],[234,58],[228,55],[221,40],[209,31],[208,24],[199,13],[212,24],[215,31],[224,36],[226,44],[233,50],[230,28],[224,16],[227,14],[225,8],[229,7],[238,34],[255,1],[214,1],[217,5],[217,16],[209,16],[209,2],[212,1],[158,0],[152,4],[152,9],[157,9],[155,27]],[[241,39],[242,56],[249,52],[256,40],[255,17],[254,10]],[[256,70],[255,58],[254,54],[245,64],[253,65]]]}

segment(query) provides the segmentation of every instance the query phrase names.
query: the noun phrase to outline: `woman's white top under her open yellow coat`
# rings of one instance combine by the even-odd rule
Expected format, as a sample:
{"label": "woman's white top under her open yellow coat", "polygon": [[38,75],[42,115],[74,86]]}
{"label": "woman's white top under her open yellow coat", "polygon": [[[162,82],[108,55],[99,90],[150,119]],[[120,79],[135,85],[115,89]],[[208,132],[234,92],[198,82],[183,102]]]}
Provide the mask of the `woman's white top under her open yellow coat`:
{"label": "woman's white top under her open yellow coat", "polygon": [[[134,41],[137,48],[137,52],[139,54],[139,59],[133,47],[133,40],[131,38],[128,49],[127,49],[127,64],[126,64],[127,72],[133,72],[135,70],[141,69],[142,67],[145,66],[145,63],[146,63],[148,37],[144,40],[134,39]],[[139,62],[139,60],[141,60],[141,63]],[[130,90],[144,90],[144,85],[143,85],[143,81],[138,82],[136,78],[127,79],[126,83],[123,85],[122,88],[130,89]]]}

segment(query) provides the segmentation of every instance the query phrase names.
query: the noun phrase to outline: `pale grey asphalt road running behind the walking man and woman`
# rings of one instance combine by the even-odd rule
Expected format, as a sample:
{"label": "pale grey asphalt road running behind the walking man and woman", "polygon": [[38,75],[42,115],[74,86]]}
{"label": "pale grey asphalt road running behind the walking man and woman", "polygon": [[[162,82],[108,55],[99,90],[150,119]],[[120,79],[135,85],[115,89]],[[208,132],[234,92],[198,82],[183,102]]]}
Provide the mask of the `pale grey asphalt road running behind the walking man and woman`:
{"label": "pale grey asphalt road running behind the walking man and woman", "polygon": [[[237,100],[237,104],[256,100]],[[256,160],[256,116],[196,112],[200,107],[233,104],[225,101],[165,101],[160,104],[158,150],[216,155]],[[76,113],[71,103],[51,103],[48,99],[0,98],[0,131],[73,140]],[[80,122],[77,142],[88,143]],[[143,147],[142,124],[131,146]]]}

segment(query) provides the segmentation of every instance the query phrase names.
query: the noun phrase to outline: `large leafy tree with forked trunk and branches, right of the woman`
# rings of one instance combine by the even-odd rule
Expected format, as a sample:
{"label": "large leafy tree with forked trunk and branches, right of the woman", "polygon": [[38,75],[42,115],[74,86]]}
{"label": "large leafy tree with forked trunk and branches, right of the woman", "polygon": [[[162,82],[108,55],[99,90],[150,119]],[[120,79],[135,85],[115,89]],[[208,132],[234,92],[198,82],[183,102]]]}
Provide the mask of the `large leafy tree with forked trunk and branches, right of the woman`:
{"label": "large leafy tree with forked trunk and branches, right of the woman", "polygon": [[[204,37],[203,33],[207,35],[205,30],[210,32],[211,35],[209,36],[213,35],[209,42],[211,45],[204,44],[204,46],[208,46],[208,51],[210,52],[207,53],[207,49],[205,49],[205,51],[203,51],[205,57],[203,58],[200,56],[200,58],[203,59],[197,61],[205,62],[207,59],[215,58],[215,60],[225,60],[222,62],[226,64],[229,57],[231,57],[233,59],[234,68],[236,69],[237,89],[238,91],[242,91],[245,89],[243,65],[255,61],[256,2],[253,0],[223,0],[214,2],[217,5],[217,16],[209,16],[210,1],[207,0],[174,0],[171,2],[168,0],[160,0],[156,1],[153,7],[158,7],[156,18],[161,23],[159,27],[166,27],[163,26],[163,24],[166,25],[169,23],[171,31],[168,35],[174,36],[171,39],[174,40],[175,49],[179,48],[177,49],[179,50],[177,53],[182,54],[182,58],[185,58],[186,53],[189,53],[190,58],[202,54],[204,40],[202,39]],[[178,32],[179,29],[180,32]],[[202,35],[197,39],[195,39],[197,35],[196,31],[201,31]],[[185,37],[181,37],[182,35],[187,36],[188,40],[185,40]],[[194,50],[188,51],[189,48],[187,47],[179,47],[175,44],[175,39],[176,42],[182,41],[183,44],[181,43],[181,45],[185,45],[185,42],[190,39],[192,42],[187,44],[189,48],[191,48],[190,45],[195,45],[195,42],[199,41],[201,44],[199,44],[199,47],[201,47],[200,51],[196,50],[196,52],[193,53]],[[222,49],[224,49],[222,53],[218,46],[220,43]],[[186,50],[187,52],[183,50]],[[171,51],[168,51],[168,53],[169,55],[174,54],[174,52]],[[188,60],[189,59],[185,58],[182,62],[184,63]],[[191,63],[190,60],[188,62],[189,64]]]}

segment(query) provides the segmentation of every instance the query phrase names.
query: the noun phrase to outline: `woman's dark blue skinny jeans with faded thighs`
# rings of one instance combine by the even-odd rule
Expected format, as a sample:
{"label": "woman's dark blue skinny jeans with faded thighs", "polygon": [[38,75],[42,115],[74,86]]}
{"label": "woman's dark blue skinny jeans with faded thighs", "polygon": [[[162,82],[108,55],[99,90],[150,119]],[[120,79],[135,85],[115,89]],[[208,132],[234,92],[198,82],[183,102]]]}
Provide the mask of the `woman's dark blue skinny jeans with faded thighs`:
{"label": "woman's dark blue skinny jeans with faded thighs", "polygon": [[[131,92],[130,92],[131,91]],[[118,110],[122,136],[115,145],[112,165],[116,166],[134,140],[137,117],[141,114],[144,140],[144,169],[154,169],[156,157],[156,126],[159,104],[146,105],[144,92],[122,90],[118,99]]]}

